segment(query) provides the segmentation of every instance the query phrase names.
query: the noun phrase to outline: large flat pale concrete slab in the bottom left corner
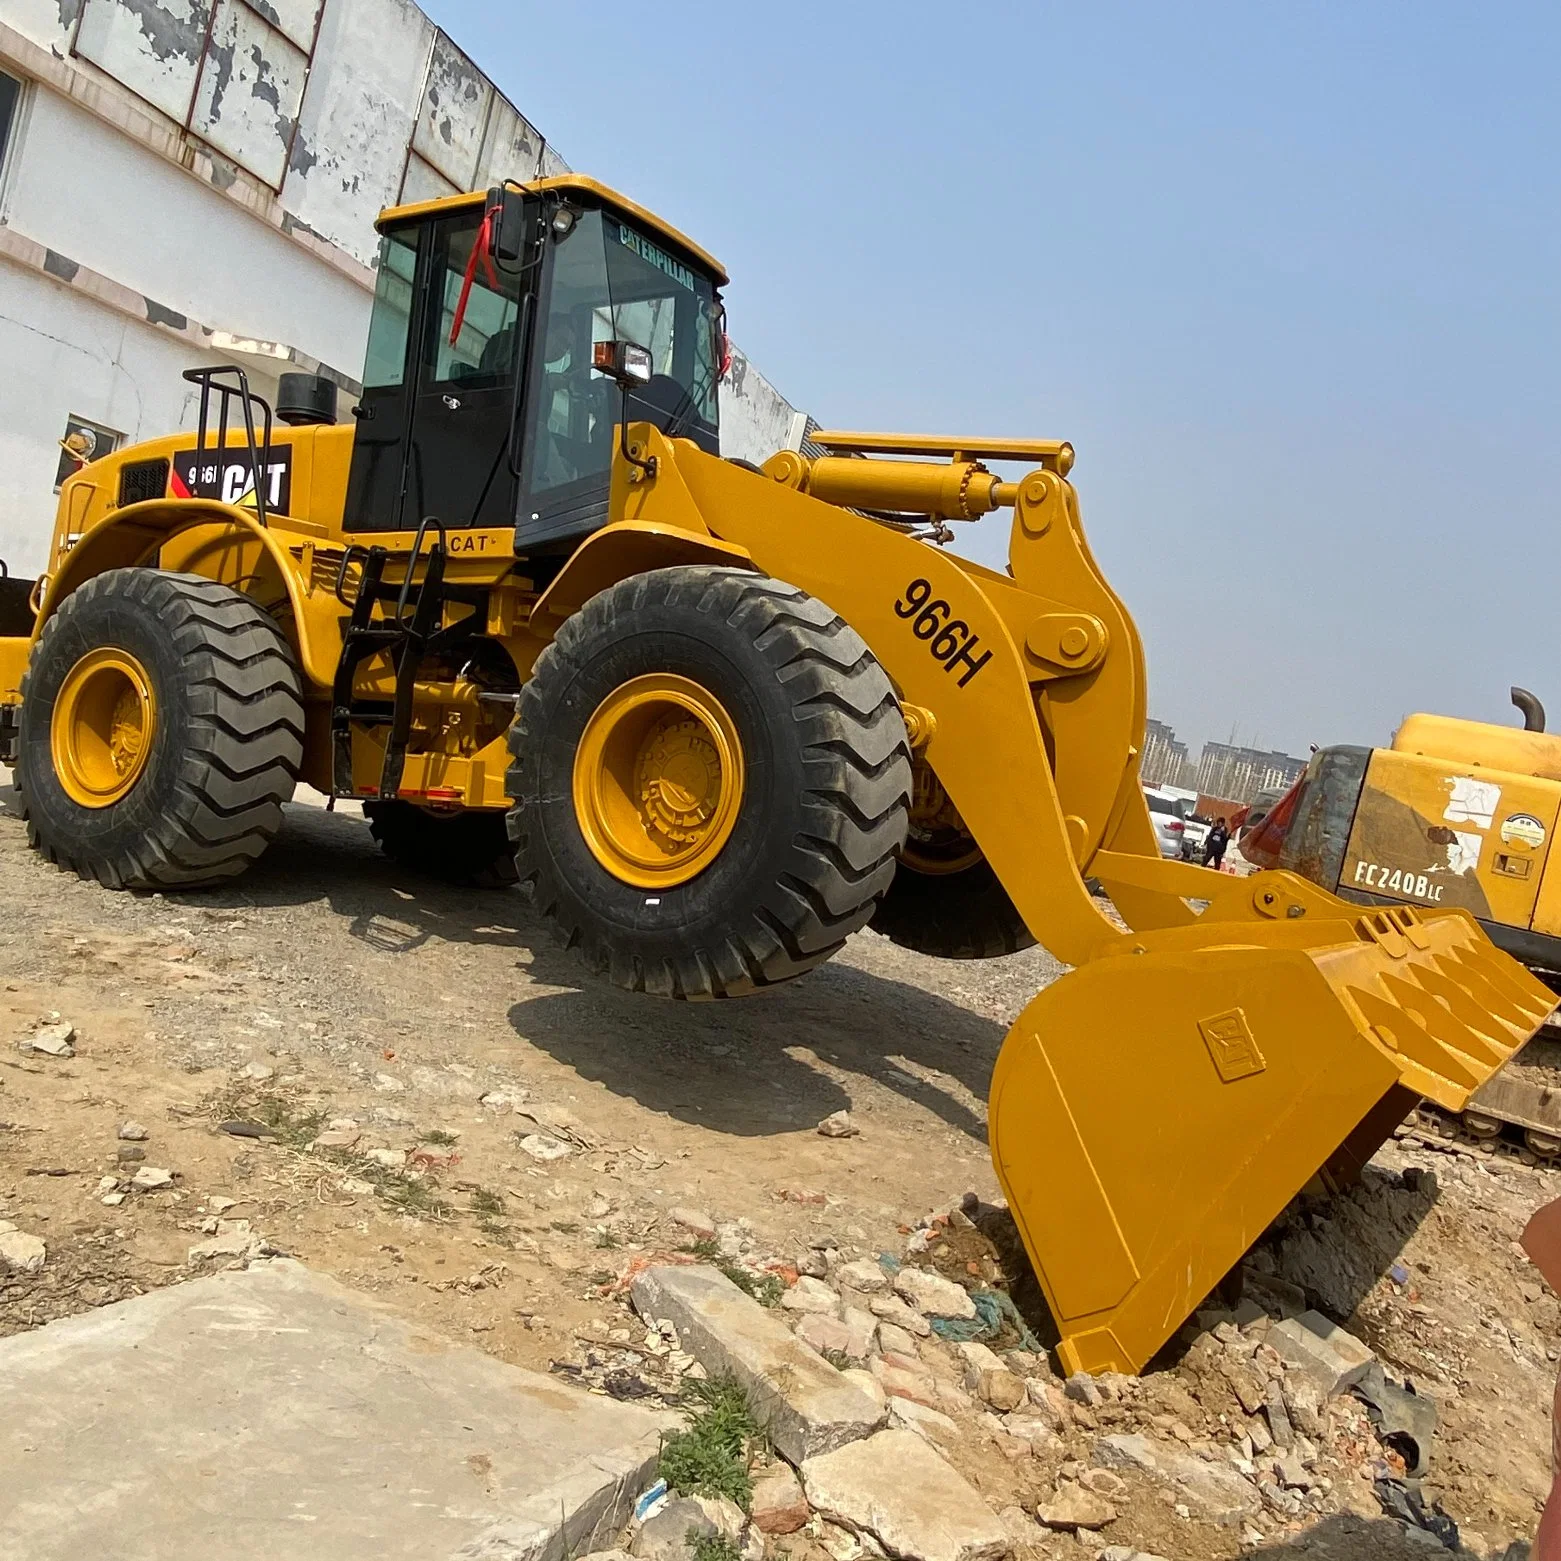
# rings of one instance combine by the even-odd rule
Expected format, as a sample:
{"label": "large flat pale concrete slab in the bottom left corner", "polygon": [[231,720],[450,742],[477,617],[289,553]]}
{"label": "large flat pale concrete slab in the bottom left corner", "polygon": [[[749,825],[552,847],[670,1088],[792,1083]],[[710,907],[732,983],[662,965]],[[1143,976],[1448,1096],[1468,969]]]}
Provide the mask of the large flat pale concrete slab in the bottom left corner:
{"label": "large flat pale concrete slab in the bottom left corner", "polygon": [[278,1260],[0,1341],[0,1561],[564,1561],[663,1428]]}

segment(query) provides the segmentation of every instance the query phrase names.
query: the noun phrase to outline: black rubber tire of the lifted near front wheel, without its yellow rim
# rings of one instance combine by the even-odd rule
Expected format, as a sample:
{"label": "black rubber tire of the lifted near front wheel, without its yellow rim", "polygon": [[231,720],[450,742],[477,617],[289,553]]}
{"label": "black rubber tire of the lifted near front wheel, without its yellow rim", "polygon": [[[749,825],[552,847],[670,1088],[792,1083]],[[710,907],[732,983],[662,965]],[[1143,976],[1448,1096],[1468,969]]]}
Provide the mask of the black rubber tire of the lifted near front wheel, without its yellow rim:
{"label": "black rubber tire of the lifted near front wheel, without its yellow rim", "polygon": [[[656,893],[598,862],[571,795],[587,721],[646,674],[720,699],[746,766],[718,855]],[[631,991],[734,997],[810,971],[873,915],[905,840],[910,746],[884,668],[821,601],[743,570],[654,570],[593,596],[537,659],[510,749],[521,888]]]}

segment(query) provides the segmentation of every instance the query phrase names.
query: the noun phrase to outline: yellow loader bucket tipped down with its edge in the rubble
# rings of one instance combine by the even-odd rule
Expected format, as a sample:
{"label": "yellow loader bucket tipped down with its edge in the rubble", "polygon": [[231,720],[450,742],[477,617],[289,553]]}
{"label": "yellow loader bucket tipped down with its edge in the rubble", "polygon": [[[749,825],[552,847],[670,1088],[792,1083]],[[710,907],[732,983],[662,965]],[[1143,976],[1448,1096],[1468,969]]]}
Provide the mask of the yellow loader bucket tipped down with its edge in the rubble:
{"label": "yellow loader bucket tipped down with its edge in the rubble", "polygon": [[1463,912],[1183,927],[1060,977],[993,1076],[993,1161],[1069,1372],[1136,1372],[1286,1204],[1555,997]]}

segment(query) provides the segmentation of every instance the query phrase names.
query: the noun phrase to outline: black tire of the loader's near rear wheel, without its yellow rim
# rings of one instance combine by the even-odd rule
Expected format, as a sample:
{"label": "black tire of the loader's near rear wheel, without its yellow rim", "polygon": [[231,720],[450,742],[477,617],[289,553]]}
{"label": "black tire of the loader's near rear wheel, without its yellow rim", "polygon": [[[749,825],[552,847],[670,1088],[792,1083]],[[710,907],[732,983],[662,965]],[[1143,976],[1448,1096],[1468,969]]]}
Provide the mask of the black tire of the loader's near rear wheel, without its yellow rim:
{"label": "black tire of the loader's near rear wheel, without its yellow rim", "polygon": [[[128,651],[156,696],[145,768],[108,807],[72,801],[50,726],[70,670]],[[198,888],[237,877],[283,823],[303,760],[292,649],[248,596],[200,574],[109,570],[44,628],[22,684],[16,782],[28,840],[109,888]]]}

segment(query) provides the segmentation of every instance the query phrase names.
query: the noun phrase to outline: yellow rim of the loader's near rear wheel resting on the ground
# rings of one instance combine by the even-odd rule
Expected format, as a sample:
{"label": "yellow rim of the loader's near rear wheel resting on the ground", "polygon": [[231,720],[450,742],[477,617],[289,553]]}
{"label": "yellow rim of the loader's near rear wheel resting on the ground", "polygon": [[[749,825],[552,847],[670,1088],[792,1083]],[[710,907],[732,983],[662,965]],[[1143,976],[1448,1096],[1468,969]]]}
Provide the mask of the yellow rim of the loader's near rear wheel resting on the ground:
{"label": "yellow rim of the loader's near rear wheel resting on the ground", "polygon": [[89,651],[55,699],[48,746],[66,796],[80,807],[112,807],[147,768],[158,701],[130,651]]}

